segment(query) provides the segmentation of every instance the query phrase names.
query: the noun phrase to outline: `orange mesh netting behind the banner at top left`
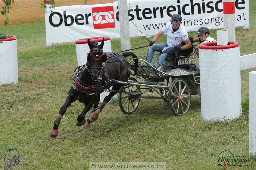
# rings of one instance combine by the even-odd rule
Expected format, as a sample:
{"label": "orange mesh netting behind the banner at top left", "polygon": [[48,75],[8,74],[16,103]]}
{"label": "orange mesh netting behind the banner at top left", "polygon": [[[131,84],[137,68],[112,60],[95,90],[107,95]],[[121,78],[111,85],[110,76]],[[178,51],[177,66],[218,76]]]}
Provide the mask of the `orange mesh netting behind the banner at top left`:
{"label": "orange mesh netting behind the banner at top left", "polygon": [[[55,7],[81,5],[85,4],[86,0],[55,0]],[[87,0],[87,4],[97,4],[104,2],[113,2],[117,0]],[[3,6],[3,2],[0,1],[0,7]],[[11,4],[12,9],[7,14],[9,18],[7,25],[22,24],[26,22],[39,22],[45,20],[44,8],[41,8],[41,0],[14,0]],[[0,14],[0,26],[5,25],[4,20],[6,16]]]}

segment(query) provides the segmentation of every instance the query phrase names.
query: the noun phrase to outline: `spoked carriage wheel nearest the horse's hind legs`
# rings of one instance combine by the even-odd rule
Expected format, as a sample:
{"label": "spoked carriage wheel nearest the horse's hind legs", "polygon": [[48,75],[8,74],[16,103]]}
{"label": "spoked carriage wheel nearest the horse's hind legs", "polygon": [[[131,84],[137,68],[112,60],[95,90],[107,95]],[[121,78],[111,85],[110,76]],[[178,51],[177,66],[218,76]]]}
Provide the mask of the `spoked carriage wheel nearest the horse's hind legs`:
{"label": "spoked carriage wheel nearest the horse's hind legs", "polygon": [[[133,77],[130,77],[129,82],[137,82]],[[121,91],[128,92],[140,92],[140,86],[138,85],[127,85],[121,88]],[[139,106],[140,99],[137,98],[137,95],[129,95],[124,93],[118,94],[118,103],[121,111],[124,114],[131,114]]]}

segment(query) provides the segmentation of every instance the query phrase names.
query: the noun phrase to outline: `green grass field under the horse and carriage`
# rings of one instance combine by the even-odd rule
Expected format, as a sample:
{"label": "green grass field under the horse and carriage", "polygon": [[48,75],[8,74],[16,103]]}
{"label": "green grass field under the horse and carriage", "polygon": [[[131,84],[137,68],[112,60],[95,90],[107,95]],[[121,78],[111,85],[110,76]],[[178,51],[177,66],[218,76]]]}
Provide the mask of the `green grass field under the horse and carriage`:
{"label": "green grass field under the horse and carriage", "polygon": [[[250,0],[250,30],[236,28],[240,55],[256,53],[255,8]],[[123,114],[114,100],[89,130],[76,126],[83,109],[76,101],[64,114],[58,137],[50,138],[77,67],[75,43],[46,48],[44,22],[1,26],[2,32],[17,36],[19,83],[0,86],[0,170],[12,169],[3,156],[16,148],[16,170],[89,170],[89,162],[166,162],[168,170],[245,169],[218,167],[217,157],[228,149],[234,156],[249,156],[248,111],[232,121],[204,121],[198,95],[192,97],[188,114],[179,117],[163,100],[142,99],[131,115]],[[196,37],[196,32],[189,35]],[[216,38],[216,30],[211,37]],[[165,36],[158,40],[164,41]],[[132,48],[145,45],[144,37],[131,38]],[[111,40],[111,46],[113,52],[120,51],[120,40]],[[147,49],[133,52],[145,56]],[[241,71],[242,99],[249,96],[249,72],[255,70]],[[249,164],[246,169],[256,169],[255,159]]]}

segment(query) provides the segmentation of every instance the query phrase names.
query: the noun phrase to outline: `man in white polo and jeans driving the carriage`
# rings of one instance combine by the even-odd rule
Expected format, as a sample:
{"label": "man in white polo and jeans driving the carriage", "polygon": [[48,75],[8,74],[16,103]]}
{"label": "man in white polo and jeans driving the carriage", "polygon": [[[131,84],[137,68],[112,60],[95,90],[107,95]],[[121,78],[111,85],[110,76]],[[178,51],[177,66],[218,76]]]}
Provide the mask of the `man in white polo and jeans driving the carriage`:
{"label": "man in white polo and jeans driving the carriage", "polygon": [[[155,51],[157,52],[167,52],[160,55],[158,61],[153,65],[153,67],[158,68],[164,62],[167,54],[174,54],[178,51],[178,45],[183,41],[186,43],[181,49],[191,48],[191,43],[188,37],[188,32],[186,27],[181,23],[182,19],[180,14],[174,14],[171,17],[171,22],[168,22],[161,31],[159,31],[153,40],[149,43],[148,55],[153,55]],[[164,33],[167,33],[167,42],[161,44],[154,44]],[[154,44],[154,45],[153,45]],[[171,48],[174,47],[174,48]],[[165,51],[166,50],[166,51]],[[146,61],[151,63],[153,56],[148,56]]]}

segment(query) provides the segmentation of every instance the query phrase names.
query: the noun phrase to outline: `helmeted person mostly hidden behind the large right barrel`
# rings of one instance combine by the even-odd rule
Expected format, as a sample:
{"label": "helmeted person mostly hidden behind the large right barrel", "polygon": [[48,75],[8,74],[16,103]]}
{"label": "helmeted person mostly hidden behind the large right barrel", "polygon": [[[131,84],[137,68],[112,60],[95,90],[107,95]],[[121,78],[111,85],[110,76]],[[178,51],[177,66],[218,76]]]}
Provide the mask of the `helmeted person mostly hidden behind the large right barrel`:
{"label": "helmeted person mostly hidden behind the large right barrel", "polygon": [[[210,37],[210,31],[207,27],[201,27],[197,31],[198,38],[195,38],[193,40],[193,43],[200,42],[200,43],[207,43],[207,42],[213,42],[216,41],[214,38]],[[200,44],[199,43],[199,44]],[[197,46],[199,47],[199,46]],[[197,56],[199,58],[199,51],[197,50]],[[199,70],[199,64],[196,65],[194,70]]]}

